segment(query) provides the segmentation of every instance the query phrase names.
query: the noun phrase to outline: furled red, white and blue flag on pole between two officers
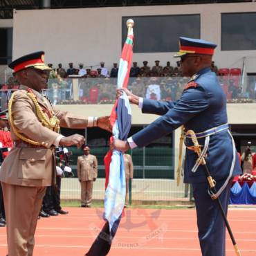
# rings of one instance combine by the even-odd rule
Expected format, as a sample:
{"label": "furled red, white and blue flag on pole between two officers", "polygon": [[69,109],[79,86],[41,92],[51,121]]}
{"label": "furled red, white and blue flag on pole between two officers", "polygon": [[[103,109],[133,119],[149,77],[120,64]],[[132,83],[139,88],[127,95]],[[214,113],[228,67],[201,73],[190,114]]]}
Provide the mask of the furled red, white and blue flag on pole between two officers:
{"label": "furled red, white and blue flag on pole between two officers", "polygon": [[[127,88],[131,69],[132,47],[134,42],[134,21],[127,20],[128,35],[122,48],[122,56],[118,69],[117,88]],[[111,111],[111,125],[114,139],[127,140],[131,128],[131,107],[127,95],[122,93]],[[122,152],[114,149],[104,157],[106,170],[106,191],[104,197],[104,221],[105,224],[100,234],[93,242],[87,256],[105,256],[109,253],[113,237],[116,235],[123,208],[125,206],[125,164]]]}

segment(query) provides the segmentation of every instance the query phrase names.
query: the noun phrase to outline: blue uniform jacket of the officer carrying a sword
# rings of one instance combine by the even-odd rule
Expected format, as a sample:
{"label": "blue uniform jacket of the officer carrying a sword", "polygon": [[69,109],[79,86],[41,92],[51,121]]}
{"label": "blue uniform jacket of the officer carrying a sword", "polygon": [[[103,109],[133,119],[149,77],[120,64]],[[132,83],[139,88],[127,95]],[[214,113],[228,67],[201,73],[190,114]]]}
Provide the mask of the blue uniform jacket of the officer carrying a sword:
{"label": "blue uniform jacket of the officer carrying a sword", "polygon": [[[208,130],[228,122],[226,111],[226,96],[221,89],[215,73],[210,68],[203,68],[193,76],[193,86],[187,86],[180,100],[175,102],[159,102],[143,99],[143,113],[154,113],[161,117],[156,119],[145,129],[132,136],[138,147],[143,147],[153,140],[161,138],[171,131],[185,126],[185,130],[192,129],[195,133]],[[191,80],[190,80],[191,82]],[[190,139],[187,139],[190,140]],[[199,144],[204,145],[204,138]],[[192,145],[192,141],[187,141]],[[203,166],[199,166],[195,173],[191,172],[196,162],[196,154],[186,149],[185,183],[205,182]],[[232,138],[228,131],[221,131],[210,136],[206,163],[215,180],[228,177],[233,158]],[[235,154],[233,175],[241,173],[237,153]]]}

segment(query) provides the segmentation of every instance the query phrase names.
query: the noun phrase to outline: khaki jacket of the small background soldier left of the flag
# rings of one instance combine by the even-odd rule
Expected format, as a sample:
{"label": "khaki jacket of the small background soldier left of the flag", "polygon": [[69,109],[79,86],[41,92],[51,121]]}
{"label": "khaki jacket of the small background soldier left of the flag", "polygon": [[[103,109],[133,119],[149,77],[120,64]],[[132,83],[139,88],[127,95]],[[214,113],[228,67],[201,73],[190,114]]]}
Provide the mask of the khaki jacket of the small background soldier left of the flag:
{"label": "khaki jacket of the small background soldier left of the flag", "polygon": [[98,176],[98,161],[96,156],[78,156],[77,177],[80,181],[93,181]]}

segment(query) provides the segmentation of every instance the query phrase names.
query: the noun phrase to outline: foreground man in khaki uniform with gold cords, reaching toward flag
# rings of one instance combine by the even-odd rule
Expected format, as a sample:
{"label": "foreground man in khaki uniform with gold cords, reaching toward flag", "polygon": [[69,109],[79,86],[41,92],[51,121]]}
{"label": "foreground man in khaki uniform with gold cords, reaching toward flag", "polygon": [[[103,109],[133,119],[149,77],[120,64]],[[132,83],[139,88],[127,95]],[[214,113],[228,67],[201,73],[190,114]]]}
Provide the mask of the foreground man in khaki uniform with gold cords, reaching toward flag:
{"label": "foreground man in khaki uniform with gold cords, reaching toward flag", "polygon": [[6,206],[8,256],[31,256],[37,216],[46,186],[55,183],[55,146],[77,145],[84,137],[64,137],[60,126],[109,129],[107,117],[77,117],[54,109],[42,94],[51,68],[44,64],[44,52],[31,53],[11,62],[20,90],[8,104],[14,147],[3,161],[0,181]]}

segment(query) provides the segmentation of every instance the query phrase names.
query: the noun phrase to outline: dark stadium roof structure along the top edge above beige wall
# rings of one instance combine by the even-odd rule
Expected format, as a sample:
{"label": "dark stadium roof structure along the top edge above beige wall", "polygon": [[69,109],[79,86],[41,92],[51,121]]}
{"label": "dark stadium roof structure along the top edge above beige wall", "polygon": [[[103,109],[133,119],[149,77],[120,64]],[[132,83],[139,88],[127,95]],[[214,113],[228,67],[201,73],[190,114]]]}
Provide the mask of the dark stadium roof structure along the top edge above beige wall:
{"label": "dark stadium roof structure along the top edge above beige wall", "polygon": [[238,3],[255,0],[0,0],[0,19],[12,19],[13,9],[89,8],[114,6],[159,6],[199,3]]}

